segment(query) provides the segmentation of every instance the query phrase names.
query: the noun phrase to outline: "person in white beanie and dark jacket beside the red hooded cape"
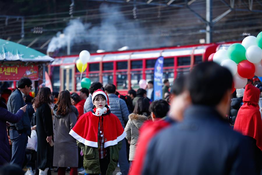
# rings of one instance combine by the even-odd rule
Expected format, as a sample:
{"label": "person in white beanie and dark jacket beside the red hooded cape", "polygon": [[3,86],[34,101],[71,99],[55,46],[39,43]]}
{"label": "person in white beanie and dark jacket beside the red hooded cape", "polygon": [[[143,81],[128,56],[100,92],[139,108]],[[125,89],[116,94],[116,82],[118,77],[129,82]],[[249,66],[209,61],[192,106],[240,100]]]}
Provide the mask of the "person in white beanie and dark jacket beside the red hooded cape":
{"label": "person in white beanie and dark jacket beside the red hooded cape", "polygon": [[230,124],[234,126],[236,121],[236,116],[238,115],[239,108],[243,105],[243,96],[244,96],[245,89],[237,89],[236,90],[236,97],[231,99],[231,109],[230,109]]}

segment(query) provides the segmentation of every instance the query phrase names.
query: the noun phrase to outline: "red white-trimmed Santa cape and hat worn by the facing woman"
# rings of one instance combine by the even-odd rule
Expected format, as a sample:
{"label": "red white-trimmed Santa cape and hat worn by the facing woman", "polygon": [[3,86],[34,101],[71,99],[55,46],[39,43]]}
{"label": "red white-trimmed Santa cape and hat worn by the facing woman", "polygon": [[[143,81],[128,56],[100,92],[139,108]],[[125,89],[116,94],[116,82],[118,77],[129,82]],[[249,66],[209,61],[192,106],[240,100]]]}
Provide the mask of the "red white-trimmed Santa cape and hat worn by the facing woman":
{"label": "red white-trimmed Santa cape and hat worn by the facing woman", "polygon": [[[95,91],[93,95],[106,95],[104,91],[97,91]],[[107,104],[109,104],[107,95],[105,97],[107,98]],[[97,116],[96,110],[87,112],[82,115],[79,120],[77,120],[77,123],[71,129],[69,134],[77,139],[79,142],[87,146],[98,148],[98,123],[99,121],[101,121],[101,119],[103,119],[103,133],[101,134],[104,135],[105,148],[107,148],[108,146],[116,145],[119,141],[123,140],[126,136],[126,133],[124,132],[120,120],[117,118],[116,115],[110,112],[110,109],[107,105],[106,107],[107,111],[102,114],[102,116]]]}

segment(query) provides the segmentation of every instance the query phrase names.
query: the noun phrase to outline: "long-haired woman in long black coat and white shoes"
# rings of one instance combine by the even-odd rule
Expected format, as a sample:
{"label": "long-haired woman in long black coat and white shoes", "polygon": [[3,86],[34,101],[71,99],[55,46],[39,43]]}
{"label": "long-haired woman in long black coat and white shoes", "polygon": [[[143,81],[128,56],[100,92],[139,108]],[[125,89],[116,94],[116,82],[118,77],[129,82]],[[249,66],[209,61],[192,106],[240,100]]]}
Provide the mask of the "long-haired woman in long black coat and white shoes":
{"label": "long-haired woman in long black coat and white shoes", "polygon": [[39,174],[51,174],[50,168],[53,159],[53,121],[49,104],[51,90],[40,88],[36,95],[36,131],[37,131],[37,167]]}

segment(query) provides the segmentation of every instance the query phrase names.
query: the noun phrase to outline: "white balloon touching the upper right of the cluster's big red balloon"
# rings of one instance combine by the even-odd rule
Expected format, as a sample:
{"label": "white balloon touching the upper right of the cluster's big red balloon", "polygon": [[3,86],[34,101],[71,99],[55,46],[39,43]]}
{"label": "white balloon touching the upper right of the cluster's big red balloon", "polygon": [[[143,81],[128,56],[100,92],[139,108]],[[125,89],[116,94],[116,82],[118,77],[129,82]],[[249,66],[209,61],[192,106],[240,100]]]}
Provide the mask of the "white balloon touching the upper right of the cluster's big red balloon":
{"label": "white balloon touching the upper right of the cluster's big red balloon", "polygon": [[246,51],[246,57],[249,62],[259,63],[262,60],[262,49],[259,46],[250,46]]}

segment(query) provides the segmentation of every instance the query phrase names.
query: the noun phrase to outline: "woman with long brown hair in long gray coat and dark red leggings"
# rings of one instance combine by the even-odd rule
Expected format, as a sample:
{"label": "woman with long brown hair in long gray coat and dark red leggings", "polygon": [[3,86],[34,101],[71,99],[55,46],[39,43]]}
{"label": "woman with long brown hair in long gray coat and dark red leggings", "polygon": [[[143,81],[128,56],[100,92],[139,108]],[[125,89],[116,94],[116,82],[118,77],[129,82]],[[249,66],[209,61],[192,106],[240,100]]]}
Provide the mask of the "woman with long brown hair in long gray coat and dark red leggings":
{"label": "woman with long brown hair in long gray coat and dark red leggings", "polygon": [[66,167],[70,167],[70,175],[77,175],[78,148],[76,140],[69,135],[77,122],[77,109],[71,104],[68,90],[59,93],[54,106],[54,167],[58,168],[58,175],[65,175]]}

